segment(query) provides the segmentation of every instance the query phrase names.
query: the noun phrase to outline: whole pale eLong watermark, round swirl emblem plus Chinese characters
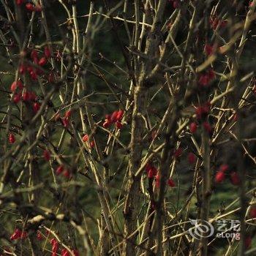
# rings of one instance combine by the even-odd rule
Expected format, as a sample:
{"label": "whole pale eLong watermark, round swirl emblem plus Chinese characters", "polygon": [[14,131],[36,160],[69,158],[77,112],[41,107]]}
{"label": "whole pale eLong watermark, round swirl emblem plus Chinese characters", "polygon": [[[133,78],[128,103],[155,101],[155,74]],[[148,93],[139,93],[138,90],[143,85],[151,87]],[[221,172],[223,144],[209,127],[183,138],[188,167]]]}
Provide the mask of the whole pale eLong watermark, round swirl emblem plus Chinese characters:
{"label": "whole pale eLong watermark, round swirl emblem plus Chinese characters", "polygon": [[[218,219],[214,225],[211,222],[201,219],[189,219],[192,227],[189,228],[188,233],[192,238],[208,238],[215,236],[216,238],[235,238],[240,239],[240,221],[236,219]],[[215,233],[214,233],[215,231]]]}

